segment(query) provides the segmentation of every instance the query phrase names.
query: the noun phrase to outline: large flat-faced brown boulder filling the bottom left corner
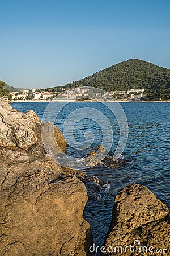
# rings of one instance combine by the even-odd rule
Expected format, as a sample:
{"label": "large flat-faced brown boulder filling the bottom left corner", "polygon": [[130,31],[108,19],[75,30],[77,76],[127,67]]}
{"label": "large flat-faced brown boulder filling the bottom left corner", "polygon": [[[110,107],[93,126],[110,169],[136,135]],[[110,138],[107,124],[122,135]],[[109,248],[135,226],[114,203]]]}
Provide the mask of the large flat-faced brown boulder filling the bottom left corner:
{"label": "large flat-faced brown boulder filling the bottom left corner", "polygon": [[16,183],[1,194],[0,254],[88,255],[84,184],[76,177],[45,185],[38,177],[18,177]]}

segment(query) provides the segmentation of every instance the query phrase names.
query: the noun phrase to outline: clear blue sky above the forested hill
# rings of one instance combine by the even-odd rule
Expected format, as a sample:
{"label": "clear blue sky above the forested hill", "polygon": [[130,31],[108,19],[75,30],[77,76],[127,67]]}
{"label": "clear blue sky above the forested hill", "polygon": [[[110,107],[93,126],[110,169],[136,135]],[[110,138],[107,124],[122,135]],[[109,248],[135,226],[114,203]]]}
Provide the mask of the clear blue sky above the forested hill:
{"label": "clear blue sky above the forested hill", "polygon": [[124,60],[170,69],[170,1],[0,2],[0,80],[65,85]]}

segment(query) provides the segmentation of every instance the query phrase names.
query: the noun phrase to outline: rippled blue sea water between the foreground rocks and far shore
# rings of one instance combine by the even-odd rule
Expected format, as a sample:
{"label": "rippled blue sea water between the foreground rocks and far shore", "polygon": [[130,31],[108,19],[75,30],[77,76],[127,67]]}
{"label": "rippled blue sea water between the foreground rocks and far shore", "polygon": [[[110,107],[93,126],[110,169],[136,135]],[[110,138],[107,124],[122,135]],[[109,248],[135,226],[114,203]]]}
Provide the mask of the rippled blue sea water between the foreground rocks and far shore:
{"label": "rippled blue sea water between the foreground rocks and far shore", "polygon": [[[114,106],[112,102],[107,104],[111,109]],[[11,105],[21,112],[32,109],[42,119],[48,103],[15,102]],[[57,106],[60,108],[61,103],[58,103]],[[79,115],[76,110],[86,107],[99,110],[111,123],[114,139],[110,154],[114,154],[120,134],[118,122],[111,110],[99,102],[70,102],[59,112],[54,121],[55,125],[63,131],[63,125],[69,114],[73,113],[71,118],[76,120]],[[170,208],[170,104],[166,102],[121,102],[121,107],[124,109],[129,126],[128,142],[122,153],[127,164],[118,169],[95,166],[85,170],[88,175],[95,175],[101,181],[100,185],[93,182],[86,183],[89,199],[84,210],[84,218],[90,222],[96,246],[103,245],[104,237],[108,232],[114,196],[127,184],[146,185]],[[48,114],[48,118],[53,121],[52,112]],[[94,141],[90,147],[93,148],[97,144],[101,144],[100,124],[104,127],[104,123],[103,117],[98,114],[96,114],[95,120],[84,118],[76,122],[73,130],[67,130],[65,133],[70,143],[67,146],[67,152],[76,157],[81,157],[83,154],[82,150],[71,146],[73,142],[71,134],[74,135],[77,142],[83,143],[85,132],[87,132],[87,138],[92,138],[92,132]],[[107,131],[107,125],[105,129]],[[109,130],[107,140],[108,143],[111,143]]]}

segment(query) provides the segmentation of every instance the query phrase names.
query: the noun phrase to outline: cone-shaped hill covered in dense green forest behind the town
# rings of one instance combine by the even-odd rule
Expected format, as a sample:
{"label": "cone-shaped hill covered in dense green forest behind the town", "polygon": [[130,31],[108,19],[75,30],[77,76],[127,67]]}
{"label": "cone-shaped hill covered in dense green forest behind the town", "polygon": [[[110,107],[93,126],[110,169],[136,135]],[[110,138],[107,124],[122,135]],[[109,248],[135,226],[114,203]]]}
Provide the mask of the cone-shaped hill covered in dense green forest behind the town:
{"label": "cone-shaped hill covered in dense green forest behind the town", "polygon": [[[170,69],[159,67],[144,60],[130,59],[92,76],[65,85],[66,88],[94,86],[106,91],[145,89],[147,93],[170,93]],[[59,88],[50,88],[58,91]]]}

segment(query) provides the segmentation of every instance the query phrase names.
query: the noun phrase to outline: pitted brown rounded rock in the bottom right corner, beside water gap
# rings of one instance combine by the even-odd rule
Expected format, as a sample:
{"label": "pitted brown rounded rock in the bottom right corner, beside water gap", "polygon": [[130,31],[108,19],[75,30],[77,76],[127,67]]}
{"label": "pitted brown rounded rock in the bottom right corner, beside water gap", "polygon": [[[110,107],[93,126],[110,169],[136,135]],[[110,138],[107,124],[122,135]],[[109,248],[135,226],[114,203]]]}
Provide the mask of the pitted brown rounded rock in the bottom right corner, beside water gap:
{"label": "pitted brown rounded rock in the bottom right corner, beside water gap", "polygon": [[147,187],[128,185],[114,200],[102,255],[169,255],[169,238],[168,208]]}

